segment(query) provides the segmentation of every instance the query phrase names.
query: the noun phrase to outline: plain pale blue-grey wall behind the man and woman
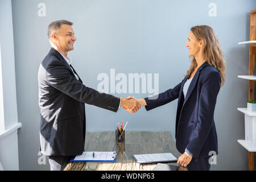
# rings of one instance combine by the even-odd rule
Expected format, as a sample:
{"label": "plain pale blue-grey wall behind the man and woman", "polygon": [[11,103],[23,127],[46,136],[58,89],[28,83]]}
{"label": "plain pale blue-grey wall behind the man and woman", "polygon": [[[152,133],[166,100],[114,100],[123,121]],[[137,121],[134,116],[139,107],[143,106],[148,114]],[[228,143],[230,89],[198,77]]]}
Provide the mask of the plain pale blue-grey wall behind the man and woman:
{"label": "plain pale blue-grey wall behind the man and woman", "polygon": [[[209,16],[210,3],[217,16]],[[246,170],[247,151],[237,143],[244,139],[244,116],[237,107],[246,107],[250,10],[255,0],[228,1],[12,1],[15,71],[19,133],[19,163],[22,170],[49,169],[38,164],[39,120],[37,73],[49,51],[47,27],[53,20],[72,21],[77,37],[69,53],[73,66],[86,86],[97,89],[97,76],[110,69],[115,74],[159,73],[159,92],[183,80],[190,65],[185,47],[189,28],[208,24],[216,32],[226,59],[226,83],[218,94],[214,119],[219,155],[213,170]],[[39,3],[45,3],[46,16]],[[39,11],[39,15],[38,15]],[[115,83],[117,84],[118,81]],[[116,96],[147,97],[148,93],[114,93]],[[95,106],[86,107],[86,130],[114,130],[116,123],[129,122],[127,130],[171,131],[175,133],[177,100],[136,114],[120,108],[117,113]]]}

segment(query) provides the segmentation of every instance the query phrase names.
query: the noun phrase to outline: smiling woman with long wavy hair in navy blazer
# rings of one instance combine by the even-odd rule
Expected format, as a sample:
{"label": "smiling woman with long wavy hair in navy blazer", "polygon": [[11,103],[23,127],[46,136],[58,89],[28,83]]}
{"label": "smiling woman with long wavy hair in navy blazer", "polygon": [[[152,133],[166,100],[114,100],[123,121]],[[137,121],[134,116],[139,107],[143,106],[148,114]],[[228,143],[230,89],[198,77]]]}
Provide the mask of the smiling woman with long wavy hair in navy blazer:
{"label": "smiling woman with long wavy hair in navy blazer", "polygon": [[209,26],[192,27],[186,47],[193,60],[184,79],[173,89],[158,97],[140,99],[139,103],[148,111],[178,98],[175,138],[182,155],[177,163],[189,170],[209,170],[210,155],[218,154],[213,115],[218,92],[225,82],[225,60]]}

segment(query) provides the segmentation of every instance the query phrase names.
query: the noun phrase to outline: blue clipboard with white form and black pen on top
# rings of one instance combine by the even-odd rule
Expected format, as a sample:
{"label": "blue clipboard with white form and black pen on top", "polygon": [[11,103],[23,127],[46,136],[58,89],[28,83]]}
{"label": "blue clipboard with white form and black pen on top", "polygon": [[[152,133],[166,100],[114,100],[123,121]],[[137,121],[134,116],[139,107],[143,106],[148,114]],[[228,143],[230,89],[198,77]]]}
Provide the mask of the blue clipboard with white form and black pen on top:
{"label": "blue clipboard with white form and black pen on top", "polygon": [[[94,153],[94,155],[93,155]],[[77,155],[71,159],[72,162],[86,162],[86,161],[108,161],[114,162],[117,158],[117,152],[82,152],[82,155]]]}

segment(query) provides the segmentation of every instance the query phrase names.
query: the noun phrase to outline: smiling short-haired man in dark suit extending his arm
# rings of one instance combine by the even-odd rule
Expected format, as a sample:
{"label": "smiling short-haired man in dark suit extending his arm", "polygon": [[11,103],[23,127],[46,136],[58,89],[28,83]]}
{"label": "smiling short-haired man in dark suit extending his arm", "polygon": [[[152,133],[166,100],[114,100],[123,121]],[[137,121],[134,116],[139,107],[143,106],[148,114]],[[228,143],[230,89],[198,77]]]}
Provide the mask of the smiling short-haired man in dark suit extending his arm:
{"label": "smiling short-haired man in dark suit extending his arm", "polygon": [[49,156],[51,170],[60,170],[68,160],[84,151],[85,106],[95,105],[116,112],[119,106],[137,111],[141,105],[82,84],[71,65],[68,51],[76,37],[72,22],[57,20],[49,24],[52,48],[39,67],[40,147]]}

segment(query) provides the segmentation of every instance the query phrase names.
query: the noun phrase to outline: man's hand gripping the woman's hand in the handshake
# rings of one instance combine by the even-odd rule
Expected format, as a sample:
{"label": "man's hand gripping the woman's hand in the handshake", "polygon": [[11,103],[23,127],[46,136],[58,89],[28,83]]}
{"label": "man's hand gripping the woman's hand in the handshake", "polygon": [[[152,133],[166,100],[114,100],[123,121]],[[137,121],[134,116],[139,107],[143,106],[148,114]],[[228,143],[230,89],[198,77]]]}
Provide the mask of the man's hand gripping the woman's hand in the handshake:
{"label": "man's hand gripping the woman's hand in the handshake", "polygon": [[129,111],[130,113],[136,113],[139,109],[141,109],[141,105],[136,100],[136,98],[127,98],[121,98],[121,106],[123,107],[123,109]]}

